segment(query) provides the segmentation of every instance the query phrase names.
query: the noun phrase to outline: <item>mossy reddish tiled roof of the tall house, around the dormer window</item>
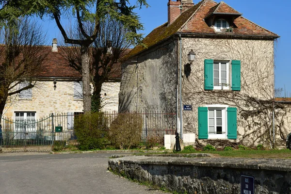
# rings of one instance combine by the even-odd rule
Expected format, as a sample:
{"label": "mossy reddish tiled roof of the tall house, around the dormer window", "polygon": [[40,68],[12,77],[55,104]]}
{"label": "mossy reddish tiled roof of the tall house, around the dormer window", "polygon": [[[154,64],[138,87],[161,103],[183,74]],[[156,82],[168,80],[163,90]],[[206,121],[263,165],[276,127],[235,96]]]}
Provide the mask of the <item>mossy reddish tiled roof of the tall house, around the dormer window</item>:
{"label": "mossy reddish tiled roof of the tall house, around the dormer window", "polygon": [[266,37],[273,39],[279,37],[277,34],[260,27],[242,16],[239,16],[234,20],[235,28],[233,28],[233,32],[215,32],[215,30],[205,22],[205,18],[210,16],[211,13],[241,15],[224,2],[216,3],[213,0],[202,0],[189,10],[183,12],[171,25],[168,26],[168,24],[165,23],[150,32],[143,40],[143,44],[146,45],[146,47],[142,45],[136,46],[131,50],[127,57],[134,56],[147,48],[162,42],[175,33],[194,33],[206,36],[227,34],[244,37],[259,36],[262,38]]}

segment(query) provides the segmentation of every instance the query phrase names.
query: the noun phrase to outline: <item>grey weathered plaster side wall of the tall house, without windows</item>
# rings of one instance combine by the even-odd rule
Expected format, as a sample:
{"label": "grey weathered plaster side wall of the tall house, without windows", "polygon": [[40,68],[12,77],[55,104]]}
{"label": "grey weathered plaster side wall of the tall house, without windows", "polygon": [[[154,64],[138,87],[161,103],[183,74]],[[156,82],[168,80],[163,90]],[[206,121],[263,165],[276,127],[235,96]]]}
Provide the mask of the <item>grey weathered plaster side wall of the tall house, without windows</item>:
{"label": "grey weathered plaster side wall of the tall house, without windows", "polygon": [[119,112],[176,112],[177,43],[149,49],[122,65]]}

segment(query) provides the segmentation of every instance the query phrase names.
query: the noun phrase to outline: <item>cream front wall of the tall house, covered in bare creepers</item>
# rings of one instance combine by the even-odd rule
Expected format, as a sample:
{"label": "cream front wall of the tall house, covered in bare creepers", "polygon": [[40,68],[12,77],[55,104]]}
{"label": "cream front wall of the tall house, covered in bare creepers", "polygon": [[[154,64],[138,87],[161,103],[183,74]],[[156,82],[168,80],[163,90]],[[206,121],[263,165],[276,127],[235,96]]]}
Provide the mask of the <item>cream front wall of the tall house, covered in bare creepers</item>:
{"label": "cream front wall of the tall house, covered in bare creepers", "polygon": [[[259,117],[244,118],[241,113],[256,109],[253,100],[273,98],[274,90],[274,42],[262,40],[232,40],[183,38],[182,64],[188,62],[187,54],[191,49],[196,58],[191,64],[190,76],[183,76],[183,104],[191,104],[193,111],[183,112],[183,128],[185,132],[198,135],[197,108],[210,104],[224,104],[238,108],[238,139],[245,145],[261,143],[265,128],[258,122]],[[241,60],[241,91],[204,90],[204,60]],[[182,69],[184,72],[184,69]],[[231,72],[231,63],[229,63]],[[231,75],[231,73],[229,74]],[[231,83],[231,76],[229,76]],[[271,113],[271,112],[270,112]]]}

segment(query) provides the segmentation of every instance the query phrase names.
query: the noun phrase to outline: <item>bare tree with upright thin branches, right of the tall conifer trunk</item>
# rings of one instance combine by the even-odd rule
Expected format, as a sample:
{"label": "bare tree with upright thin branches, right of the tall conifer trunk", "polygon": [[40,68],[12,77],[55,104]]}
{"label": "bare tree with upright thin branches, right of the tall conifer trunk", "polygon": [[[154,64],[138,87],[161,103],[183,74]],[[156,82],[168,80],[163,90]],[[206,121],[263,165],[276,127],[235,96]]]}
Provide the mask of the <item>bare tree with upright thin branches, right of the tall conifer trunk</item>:
{"label": "bare tree with upright thin branches, right of the tall conifer trunk", "polygon": [[[95,25],[87,22],[84,26],[86,31],[92,32]],[[82,38],[82,33],[75,32],[74,29],[78,28],[70,28],[70,35],[76,39]],[[92,56],[90,77],[94,87],[91,107],[93,112],[98,112],[101,108],[102,83],[120,74],[120,59],[125,56],[130,46],[126,38],[128,32],[120,21],[106,18],[100,22],[100,31],[89,49]],[[61,48],[63,58],[69,62],[70,66],[82,73],[80,48],[73,44],[64,44],[64,46]]]}

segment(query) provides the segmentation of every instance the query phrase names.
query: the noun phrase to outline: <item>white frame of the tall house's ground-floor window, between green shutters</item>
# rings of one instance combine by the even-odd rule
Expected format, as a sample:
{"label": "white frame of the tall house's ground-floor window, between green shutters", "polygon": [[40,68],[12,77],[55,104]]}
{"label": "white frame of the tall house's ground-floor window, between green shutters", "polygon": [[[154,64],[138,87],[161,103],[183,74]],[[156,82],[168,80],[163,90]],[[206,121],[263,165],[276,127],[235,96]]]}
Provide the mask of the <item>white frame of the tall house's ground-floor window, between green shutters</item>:
{"label": "white frame of the tall house's ground-floor window, between green shutters", "polygon": [[[227,105],[220,105],[220,104],[213,104],[213,105],[207,105],[208,107],[208,113],[207,113],[207,119],[208,119],[208,139],[227,139]],[[210,122],[209,122],[209,111],[210,110],[221,110],[222,111],[222,134],[213,134],[210,133]],[[216,112],[216,111],[215,111]],[[215,114],[214,114],[215,115]],[[216,117],[214,117],[214,124],[216,123]],[[216,125],[214,125],[215,127]]]}

